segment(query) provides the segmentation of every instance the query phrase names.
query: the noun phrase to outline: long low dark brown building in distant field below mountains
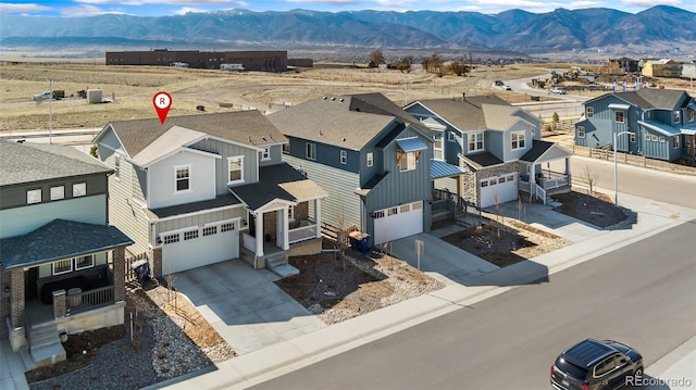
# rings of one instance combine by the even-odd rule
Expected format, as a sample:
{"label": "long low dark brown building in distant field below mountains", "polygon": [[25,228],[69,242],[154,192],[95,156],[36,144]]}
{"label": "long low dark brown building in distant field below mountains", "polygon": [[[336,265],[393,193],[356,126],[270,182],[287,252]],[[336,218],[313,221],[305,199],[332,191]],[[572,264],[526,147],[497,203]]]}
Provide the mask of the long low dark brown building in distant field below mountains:
{"label": "long low dark brown building in distant field below mountains", "polygon": [[247,71],[285,72],[287,51],[198,51],[156,49],[149,51],[108,51],[107,65],[176,66],[220,70],[221,64],[243,64]]}

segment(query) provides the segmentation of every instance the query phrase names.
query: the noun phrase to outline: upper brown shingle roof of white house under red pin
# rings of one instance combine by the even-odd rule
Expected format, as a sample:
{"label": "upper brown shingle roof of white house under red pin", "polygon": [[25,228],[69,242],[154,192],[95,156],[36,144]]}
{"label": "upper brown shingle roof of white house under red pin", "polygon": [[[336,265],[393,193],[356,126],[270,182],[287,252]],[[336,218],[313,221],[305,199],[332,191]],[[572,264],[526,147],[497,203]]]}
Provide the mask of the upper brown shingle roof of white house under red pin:
{"label": "upper brown shingle roof of white house under red pin", "polygon": [[[109,128],[112,128],[121,140],[126,154],[133,158],[174,126],[249,146],[287,142],[287,138],[256,110],[170,116],[164,125],[160,124],[159,118],[110,122],[95,137],[94,142],[97,142]],[[182,144],[179,141],[178,146]]]}

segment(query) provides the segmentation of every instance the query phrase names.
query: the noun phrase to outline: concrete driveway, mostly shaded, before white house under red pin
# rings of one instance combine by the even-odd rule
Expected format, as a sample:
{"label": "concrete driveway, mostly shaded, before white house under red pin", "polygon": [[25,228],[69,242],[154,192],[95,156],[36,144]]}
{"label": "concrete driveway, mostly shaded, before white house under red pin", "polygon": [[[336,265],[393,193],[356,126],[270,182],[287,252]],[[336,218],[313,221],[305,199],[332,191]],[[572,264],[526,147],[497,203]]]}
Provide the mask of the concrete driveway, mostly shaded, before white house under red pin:
{"label": "concrete driveway, mostly shaded, before white house under red pin", "polygon": [[236,259],[175,274],[174,287],[243,355],[326,326],[276,279]]}

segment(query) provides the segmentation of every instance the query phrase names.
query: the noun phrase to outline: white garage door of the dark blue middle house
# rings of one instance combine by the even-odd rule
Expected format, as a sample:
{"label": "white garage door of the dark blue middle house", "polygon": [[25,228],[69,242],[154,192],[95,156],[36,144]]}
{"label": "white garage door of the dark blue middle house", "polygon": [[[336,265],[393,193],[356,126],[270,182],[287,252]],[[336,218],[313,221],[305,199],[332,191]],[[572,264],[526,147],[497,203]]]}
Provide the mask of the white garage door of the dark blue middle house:
{"label": "white garage door of the dark blue middle house", "polygon": [[423,231],[423,202],[401,204],[374,213],[374,243],[398,240]]}

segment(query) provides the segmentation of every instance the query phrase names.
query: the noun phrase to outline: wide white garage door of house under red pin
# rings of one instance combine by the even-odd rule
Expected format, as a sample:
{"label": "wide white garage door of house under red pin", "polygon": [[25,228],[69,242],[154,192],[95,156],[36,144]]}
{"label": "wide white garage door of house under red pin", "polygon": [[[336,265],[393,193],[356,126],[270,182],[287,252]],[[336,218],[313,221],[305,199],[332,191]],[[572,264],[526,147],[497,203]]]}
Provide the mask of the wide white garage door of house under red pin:
{"label": "wide white garage door of house under red pin", "polygon": [[178,273],[239,257],[239,222],[162,235],[162,273]]}

